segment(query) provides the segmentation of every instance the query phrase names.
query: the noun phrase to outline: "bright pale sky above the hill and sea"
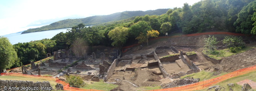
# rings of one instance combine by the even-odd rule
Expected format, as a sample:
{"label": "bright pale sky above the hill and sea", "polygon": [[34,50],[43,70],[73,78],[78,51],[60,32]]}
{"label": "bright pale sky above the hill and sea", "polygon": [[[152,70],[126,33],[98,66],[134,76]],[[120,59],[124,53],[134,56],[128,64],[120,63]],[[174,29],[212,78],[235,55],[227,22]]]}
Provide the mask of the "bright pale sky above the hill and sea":
{"label": "bright pale sky above the hill and sea", "polygon": [[193,5],[201,0],[0,0],[0,35],[63,20]]}

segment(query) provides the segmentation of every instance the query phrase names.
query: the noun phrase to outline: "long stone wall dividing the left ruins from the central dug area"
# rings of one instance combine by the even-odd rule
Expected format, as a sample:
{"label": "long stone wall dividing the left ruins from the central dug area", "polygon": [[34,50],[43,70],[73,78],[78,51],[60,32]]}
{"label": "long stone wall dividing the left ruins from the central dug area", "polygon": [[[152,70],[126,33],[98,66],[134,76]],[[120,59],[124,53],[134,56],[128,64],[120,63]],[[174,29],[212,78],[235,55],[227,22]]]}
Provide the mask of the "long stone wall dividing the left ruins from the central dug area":
{"label": "long stone wall dividing the left ruins from the central dug area", "polygon": [[114,70],[115,70],[115,67],[117,66],[118,64],[118,61],[119,61],[119,58],[118,59],[115,59],[112,64],[110,65],[109,69],[107,70],[107,73],[105,74],[104,76],[104,81],[107,81],[113,74]]}

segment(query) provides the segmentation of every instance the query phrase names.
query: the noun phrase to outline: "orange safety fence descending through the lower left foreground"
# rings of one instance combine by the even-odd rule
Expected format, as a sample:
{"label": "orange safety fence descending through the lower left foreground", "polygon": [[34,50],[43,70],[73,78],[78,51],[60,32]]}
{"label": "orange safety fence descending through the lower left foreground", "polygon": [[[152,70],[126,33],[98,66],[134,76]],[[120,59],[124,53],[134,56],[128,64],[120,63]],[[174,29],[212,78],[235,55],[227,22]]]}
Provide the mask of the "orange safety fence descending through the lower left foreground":
{"label": "orange safety fence descending through the lower left foreground", "polygon": [[22,76],[22,77],[28,77],[31,78],[33,77],[45,77],[47,80],[56,80],[57,83],[60,83],[63,85],[63,89],[65,91],[103,91],[103,90],[96,90],[96,89],[83,89],[83,88],[73,88],[70,87],[70,85],[64,81],[59,80],[58,78],[53,78],[51,76],[42,76],[42,75],[28,75],[28,74],[22,74],[22,73],[1,73],[1,75],[10,75],[10,76]]}

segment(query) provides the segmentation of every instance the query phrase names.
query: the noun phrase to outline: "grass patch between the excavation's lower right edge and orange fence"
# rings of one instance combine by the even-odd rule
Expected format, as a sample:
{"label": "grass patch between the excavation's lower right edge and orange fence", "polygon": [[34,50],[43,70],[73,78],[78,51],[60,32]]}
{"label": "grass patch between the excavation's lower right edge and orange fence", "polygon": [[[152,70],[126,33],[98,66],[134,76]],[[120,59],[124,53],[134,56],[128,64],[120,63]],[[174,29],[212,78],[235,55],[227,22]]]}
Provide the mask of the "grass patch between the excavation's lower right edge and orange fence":
{"label": "grass patch between the excavation's lower right edge and orange fence", "polygon": [[189,75],[184,75],[184,76],[182,76],[180,78],[193,77],[193,78],[199,78],[200,79],[199,81],[204,81],[204,80],[216,78],[216,77],[219,77],[219,76],[225,75],[225,74],[227,74],[227,73],[226,72],[222,72],[219,75],[213,76],[213,72],[207,72],[205,70],[202,70],[202,71],[200,71],[198,73],[192,73],[192,74],[189,74]]}

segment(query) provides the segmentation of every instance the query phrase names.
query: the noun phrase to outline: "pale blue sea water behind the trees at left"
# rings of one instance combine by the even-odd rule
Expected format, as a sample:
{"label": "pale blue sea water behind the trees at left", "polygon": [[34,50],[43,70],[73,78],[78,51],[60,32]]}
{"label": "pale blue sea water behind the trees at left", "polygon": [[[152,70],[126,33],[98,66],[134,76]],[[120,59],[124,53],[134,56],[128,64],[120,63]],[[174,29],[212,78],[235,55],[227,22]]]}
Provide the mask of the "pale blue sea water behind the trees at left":
{"label": "pale blue sea water behind the trees at left", "polygon": [[[70,28],[67,28],[70,29]],[[44,38],[52,38],[56,34],[63,32],[65,33],[67,29],[55,29],[55,30],[48,30],[48,31],[42,31],[42,32],[32,32],[28,34],[21,34],[19,33],[14,33],[14,34],[8,34],[8,35],[3,35],[4,37],[7,37],[11,44],[16,44],[16,43],[24,43],[24,42],[31,42],[34,40],[42,40]]]}

